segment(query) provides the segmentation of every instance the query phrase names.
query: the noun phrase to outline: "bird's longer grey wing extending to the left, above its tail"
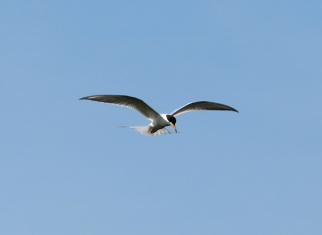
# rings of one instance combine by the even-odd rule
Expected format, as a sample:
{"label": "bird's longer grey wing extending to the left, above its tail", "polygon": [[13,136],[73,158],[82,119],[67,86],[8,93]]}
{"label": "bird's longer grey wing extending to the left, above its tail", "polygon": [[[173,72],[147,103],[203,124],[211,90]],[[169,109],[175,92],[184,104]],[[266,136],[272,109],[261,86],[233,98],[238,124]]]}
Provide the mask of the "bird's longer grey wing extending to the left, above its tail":
{"label": "bird's longer grey wing extending to the left, above its tail", "polygon": [[93,96],[87,96],[80,99],[90,99],[95,100],[99,102],[105,102],[105,103],[113,103],[129,108],[133,108],[139,113],[141,113],[145,118],[147,118],[150,121],[153,121],[155,118],[157,118],[160,114],[157,113],[153,108],[151,108],[149,105],[147,105],[143,100],[127,96],[127,95],[93,95]]}

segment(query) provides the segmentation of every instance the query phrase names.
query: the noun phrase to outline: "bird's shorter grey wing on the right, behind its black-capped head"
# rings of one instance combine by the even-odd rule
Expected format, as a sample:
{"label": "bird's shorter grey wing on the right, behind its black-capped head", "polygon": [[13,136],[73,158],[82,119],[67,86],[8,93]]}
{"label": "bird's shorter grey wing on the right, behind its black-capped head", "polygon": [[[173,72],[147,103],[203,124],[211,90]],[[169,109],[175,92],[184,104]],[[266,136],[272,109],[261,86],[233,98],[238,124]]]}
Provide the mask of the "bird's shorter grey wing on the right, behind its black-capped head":
{"label": "bird's shorter grey wing on the right, behind its black-capped head", "polygon": [[185,106],[174,110],[171,115],[176,116],[184,112],[200,111],[200,110],[230,110],[238,112],[236,109],[225,104],[214,103],[209,101],[198,101],[187,103]]}

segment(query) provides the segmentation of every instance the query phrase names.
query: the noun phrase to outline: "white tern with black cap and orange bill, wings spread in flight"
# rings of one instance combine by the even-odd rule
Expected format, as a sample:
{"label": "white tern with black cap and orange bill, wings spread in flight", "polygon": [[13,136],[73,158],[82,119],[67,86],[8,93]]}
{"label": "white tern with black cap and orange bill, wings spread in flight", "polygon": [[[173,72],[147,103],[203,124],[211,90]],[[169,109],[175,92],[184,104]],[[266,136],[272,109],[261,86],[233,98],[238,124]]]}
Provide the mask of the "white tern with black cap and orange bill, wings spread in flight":
{"label": "white tern with black cap and orange bill, wings spread in flight", "polygon": [[129,108],[133,108],[139,113],[141,113],[145,118],[151,121],[151,123],[147,126],[142,127],[125,127],[132,128],[142,135],[147,136],[159,136],[162,134],[172,133],[172,131],[168,130],[167,126],[173,126],[175,131],[176,128],[176,118],[175,116],[189,111],[199,111],[199,110],[230,110],[238,112],[236,109],[229,107],[225,104],[214,103],[209,101],[198,101],[187,103],[186,105],[174,110],[172,113],[158,113],[149,105],[147,105],[143,100],[127,96],[127,95],[93,95],[87,96],[80,99],[89,99],[95,100],[105,103],[113,103]]}

